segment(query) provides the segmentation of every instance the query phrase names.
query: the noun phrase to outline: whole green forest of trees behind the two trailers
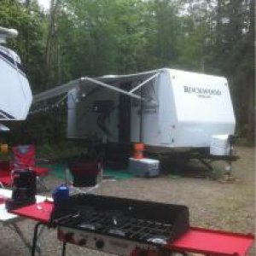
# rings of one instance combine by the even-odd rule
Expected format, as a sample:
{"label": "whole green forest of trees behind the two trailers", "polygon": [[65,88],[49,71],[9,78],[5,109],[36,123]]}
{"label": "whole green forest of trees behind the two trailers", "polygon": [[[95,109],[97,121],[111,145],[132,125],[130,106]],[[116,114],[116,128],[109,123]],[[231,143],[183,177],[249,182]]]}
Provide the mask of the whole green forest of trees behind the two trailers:
{"label": "whole green forest of trees behind the two trailers", "polygon": [[[0,0],[0,26],[19,31],[33,94],[82,76],[160,67],[229,80],[236,133],[254,142],[253,0]],[[61,143],[65,109],[12,124],[9,143]]]}

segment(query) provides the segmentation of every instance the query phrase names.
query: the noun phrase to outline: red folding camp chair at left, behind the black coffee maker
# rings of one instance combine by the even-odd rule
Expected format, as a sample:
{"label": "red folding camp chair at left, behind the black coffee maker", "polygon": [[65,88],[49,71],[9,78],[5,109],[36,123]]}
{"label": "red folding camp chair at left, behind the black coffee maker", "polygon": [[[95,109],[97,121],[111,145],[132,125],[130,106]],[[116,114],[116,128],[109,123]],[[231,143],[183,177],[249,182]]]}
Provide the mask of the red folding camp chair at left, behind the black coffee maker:
{"label": "red folding camp chair at left, behind the black coffee maker", "polygon": [[44,177],[49,173],[49,168],[36,166],[36,148],[34,145],[19,145],[13,148],[14,161],[11,170],[28,169],[36,172],[37,183],[47,189]]}

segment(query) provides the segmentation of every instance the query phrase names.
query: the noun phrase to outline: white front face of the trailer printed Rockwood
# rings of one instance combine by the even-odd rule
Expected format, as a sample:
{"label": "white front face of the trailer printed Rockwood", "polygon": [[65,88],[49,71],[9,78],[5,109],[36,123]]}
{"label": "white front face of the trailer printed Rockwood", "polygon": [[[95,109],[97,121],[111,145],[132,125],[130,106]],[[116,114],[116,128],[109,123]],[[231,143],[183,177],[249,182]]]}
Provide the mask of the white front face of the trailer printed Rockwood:
{"label": "white front face of the trailer printed Rockwood", "polygon": [[236,119],[226,79],[179,70],[169,73],[177,117],[172,147],[209,147],[212,135],[234,134]]}

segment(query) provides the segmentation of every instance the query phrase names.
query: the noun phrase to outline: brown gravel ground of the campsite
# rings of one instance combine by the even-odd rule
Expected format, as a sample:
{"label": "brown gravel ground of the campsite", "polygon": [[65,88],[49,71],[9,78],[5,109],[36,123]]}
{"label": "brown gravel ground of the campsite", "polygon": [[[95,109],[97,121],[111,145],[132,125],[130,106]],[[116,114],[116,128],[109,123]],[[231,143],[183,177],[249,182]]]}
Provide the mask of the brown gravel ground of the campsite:
{"label": "brown gravel ground of the campsite", "polygon": [[[254,148],[236,149],[240,160],[233,166],[235,182],[219,183],[208,178],[174,176],[133,178],[102,183],[102,195],[184,204],[189,207],[192,226],[254,233]],[[219,173],[224,165],[218,164],[215,167]],[[47,177],[46,182],[49,187],[54,188],[61,180]],[[20,221],[19,224],[29,241],[32,241],[34,224],[31,220]],[[44,232],[41,246],[44,248],[43,256],[61,255],[61,242],[56,239],[55,230]],[[3,225],[0,229],[0,256],[2,255],[29,255],[15,232]],[[68,245],[67,255],[108,254]],[[256,255],[255,250],[252,249],[249,255]]]}

